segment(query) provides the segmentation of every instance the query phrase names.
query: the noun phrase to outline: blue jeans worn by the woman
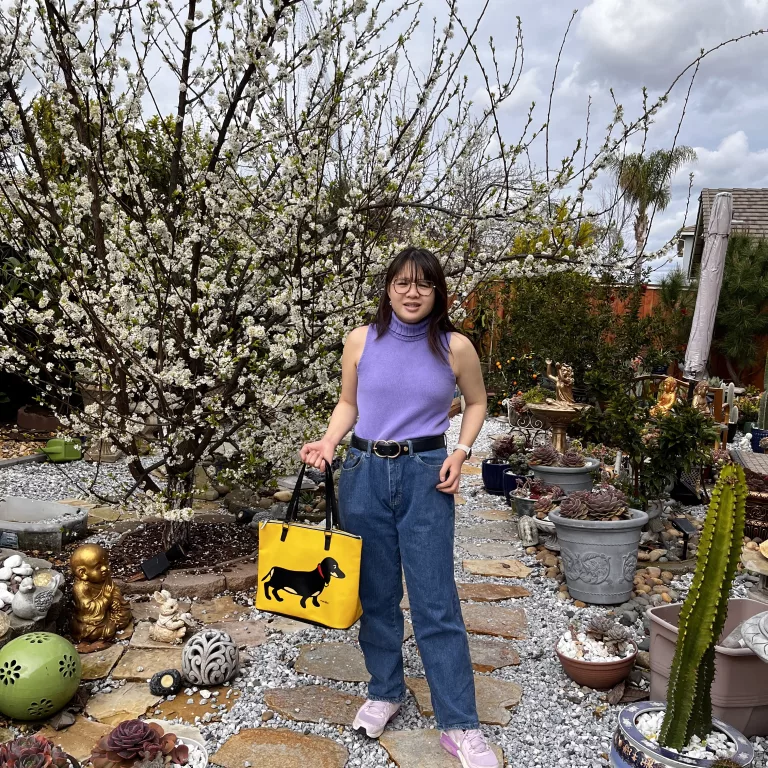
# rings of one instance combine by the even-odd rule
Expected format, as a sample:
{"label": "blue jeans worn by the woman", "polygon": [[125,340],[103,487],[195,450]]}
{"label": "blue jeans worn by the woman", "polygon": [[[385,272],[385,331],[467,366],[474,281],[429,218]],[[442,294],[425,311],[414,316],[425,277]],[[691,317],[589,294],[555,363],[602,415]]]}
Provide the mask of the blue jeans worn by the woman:
{"label": "blue jeans worn by the woman", "polygon": [[363,539],[360,647],[368,698],[401,702],[402,572],[438,728],[478,728],[469,643],[453,577],[454,498],[435,489],[445,448],[395,459],[349,448],[339,480],[342,527]]}

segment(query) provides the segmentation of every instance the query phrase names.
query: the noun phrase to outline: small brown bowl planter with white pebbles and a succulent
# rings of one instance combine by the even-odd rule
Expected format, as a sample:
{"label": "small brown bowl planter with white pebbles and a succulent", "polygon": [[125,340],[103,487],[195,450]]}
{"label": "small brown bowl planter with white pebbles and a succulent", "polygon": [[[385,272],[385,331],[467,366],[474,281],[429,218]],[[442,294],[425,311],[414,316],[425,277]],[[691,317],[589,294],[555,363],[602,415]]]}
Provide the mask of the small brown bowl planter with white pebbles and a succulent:
{"label": "small brown bowl planter with white pebbles and a succulent", "polygon": [[571,680],[608,690],[632,671],[637,644],[629,630],[610,616],[595,616],[584,631],[569,627],[557,641],[555,653]]}

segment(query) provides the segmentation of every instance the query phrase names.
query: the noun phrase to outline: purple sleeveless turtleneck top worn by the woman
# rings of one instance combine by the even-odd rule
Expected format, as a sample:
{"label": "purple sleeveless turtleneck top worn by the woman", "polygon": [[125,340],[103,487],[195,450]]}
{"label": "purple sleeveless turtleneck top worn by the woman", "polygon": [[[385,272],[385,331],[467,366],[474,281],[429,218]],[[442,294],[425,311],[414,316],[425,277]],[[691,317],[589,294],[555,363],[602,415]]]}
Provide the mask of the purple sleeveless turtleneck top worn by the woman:
{"label": "purple sleeveless turtleneck top worn by the woman", "polygon": [[[428,325],[428,317],[404,323],[393,312],[381,338],[375,324],[368,326],[357,364],[355,434],[363,440],[404,441],[448,429],[456,377],[448,362],[430,350]],[[444,333],[443,339],[447,350],[451,334]]]}

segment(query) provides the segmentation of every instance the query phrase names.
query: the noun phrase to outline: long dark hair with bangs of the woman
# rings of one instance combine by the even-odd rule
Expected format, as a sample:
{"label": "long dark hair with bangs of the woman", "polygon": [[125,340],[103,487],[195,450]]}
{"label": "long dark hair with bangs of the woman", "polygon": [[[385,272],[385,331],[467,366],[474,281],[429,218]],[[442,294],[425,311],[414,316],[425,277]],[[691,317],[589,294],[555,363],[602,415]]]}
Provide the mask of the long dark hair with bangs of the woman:
{"label": "long dark hair with bangs of the woman", "polygon": [[392,259],[392,263],[387,269],[384,287],[381,290],[379,310],[376,313],[377,338],[381,338],[386,333],[392,320],[392,305],[387,301],[389,298],[387,288],[401,272],[410,274],[412,280],[415,280],[421,273],[424,280],[429,280],[435,284],[435,304],[432,307],[432,312],[428,315],[427,342],[432,354],[447,363],[449,350],[444,343],[442,334],[447,331],[459,333],[459,329],[448,317],[448,286],[445,284],[443,267],[437,260],[437,256],[426,248],[408,247]]}

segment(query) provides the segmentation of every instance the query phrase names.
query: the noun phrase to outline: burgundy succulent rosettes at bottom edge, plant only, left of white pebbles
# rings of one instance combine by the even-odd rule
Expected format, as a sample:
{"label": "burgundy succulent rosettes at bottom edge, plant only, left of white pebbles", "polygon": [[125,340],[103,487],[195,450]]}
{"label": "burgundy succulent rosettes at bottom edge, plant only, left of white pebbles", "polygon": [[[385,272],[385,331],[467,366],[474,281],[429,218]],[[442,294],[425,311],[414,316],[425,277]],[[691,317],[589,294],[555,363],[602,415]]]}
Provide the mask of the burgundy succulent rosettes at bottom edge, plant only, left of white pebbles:
{"label": "burgundy succulent rosettes at bottom edge, plant only, left of white pebbles", "polygon": [[102,736],[91,752],[93,768],[133,768],[153,763],[158,757],[186,765],[189,749],[176,743],[176,735],[165,733],[156,723],[124,720]]}

